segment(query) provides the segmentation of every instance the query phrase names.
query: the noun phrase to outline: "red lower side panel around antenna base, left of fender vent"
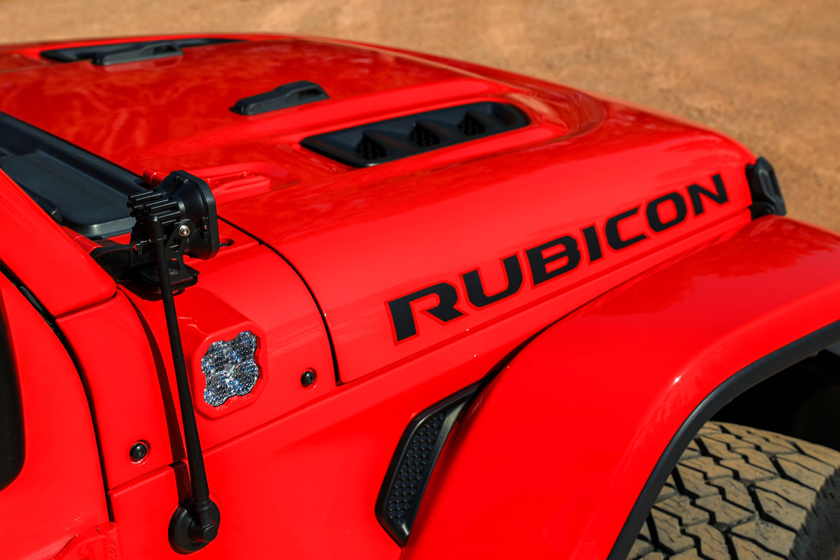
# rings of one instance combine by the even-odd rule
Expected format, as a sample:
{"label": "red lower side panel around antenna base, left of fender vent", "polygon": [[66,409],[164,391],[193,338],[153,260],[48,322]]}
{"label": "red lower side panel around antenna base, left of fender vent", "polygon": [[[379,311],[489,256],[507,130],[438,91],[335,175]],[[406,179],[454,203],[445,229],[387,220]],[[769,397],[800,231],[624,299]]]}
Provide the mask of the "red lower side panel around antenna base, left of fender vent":
{"label": "red lower side panel around antenna base, left of fender vent", "polygon": [[[494,347],[497,340],[489,336],[477,335],[486,344],[452,348],[451,360],[428,354],[388,374],[341,385],[208,449],[207,475],[223,519],[218,539],[202,556],[260,557],[282,547],[296,557],[399,557],[400,547],[373,515],[391,454],[412,416],[480,379],[511,349]],[[179,557],[165,527],[186,492],[177,467],[111,491],[127,560]]]}

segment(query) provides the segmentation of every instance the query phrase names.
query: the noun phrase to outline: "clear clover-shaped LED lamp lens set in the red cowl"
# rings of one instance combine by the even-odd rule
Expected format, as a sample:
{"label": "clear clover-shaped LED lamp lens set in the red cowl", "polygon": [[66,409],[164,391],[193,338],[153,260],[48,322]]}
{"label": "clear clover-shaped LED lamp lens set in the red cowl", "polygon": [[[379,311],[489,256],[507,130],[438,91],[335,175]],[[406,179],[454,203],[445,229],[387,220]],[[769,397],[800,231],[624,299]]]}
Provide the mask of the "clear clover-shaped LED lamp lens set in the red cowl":
{"label": "clear clover-shaped LED lamp lens set in the red cowl", "polygon": [[235,395],[248,395],[260,377],[255,362],[257,338],[253,332],[243,331],[233,340],[219,340],[207,348],[202,358],[204,374],[204,402],[222,406]]}

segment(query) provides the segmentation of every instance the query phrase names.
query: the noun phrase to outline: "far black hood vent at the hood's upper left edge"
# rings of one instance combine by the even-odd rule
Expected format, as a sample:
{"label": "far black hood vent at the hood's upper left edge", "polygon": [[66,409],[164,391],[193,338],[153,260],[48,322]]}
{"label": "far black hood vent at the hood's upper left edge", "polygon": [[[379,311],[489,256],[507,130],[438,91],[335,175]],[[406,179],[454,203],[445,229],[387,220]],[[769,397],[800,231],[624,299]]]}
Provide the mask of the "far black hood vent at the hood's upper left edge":
{"label": "far black hood vent at the hood's upper left edge", "polygon": [[[221,39],[216,37],[192,37],[189,39],[170,39],[155,41],[130,41],[128,43],[91,44],[81,47],[68,47],[66,49],[42,50],[41,56],[58,62],[78,62],[79,60],[91,60],[96,65],[122,64],[123,62],[136,62],[138,60],[150,60],[162,56],[183,55],[181,49],[187,47],[200,47],[206,44],[239,43],[241,39]],[[165,46],[171,45],[171,46]],[[150,50],[149,50],[150,49]],[[155,55],[155,49],[159,52]],[[170,50],[171,54],[166,54]],[[177,50],[177,51],[176,51]],[[130,53],[144,51],[142,58],[132,59]],[[123,59],[123,60],[120,60]]]}

